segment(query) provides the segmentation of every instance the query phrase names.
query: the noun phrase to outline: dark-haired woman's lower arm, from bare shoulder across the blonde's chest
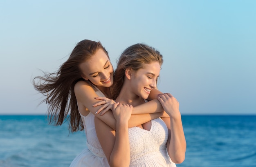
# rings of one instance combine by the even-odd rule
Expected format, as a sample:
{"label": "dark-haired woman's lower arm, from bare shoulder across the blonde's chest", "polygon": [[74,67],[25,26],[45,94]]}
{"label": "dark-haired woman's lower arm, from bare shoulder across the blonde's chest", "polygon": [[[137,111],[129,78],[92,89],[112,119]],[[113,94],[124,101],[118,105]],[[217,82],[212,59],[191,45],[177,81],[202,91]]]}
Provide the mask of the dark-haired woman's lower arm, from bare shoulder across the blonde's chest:
{"label": "dark-haired woman's lower arm, from bare shoulder across the blonde's chest", "polygon": [[[95,114],[101,106],[94,107],[93,105],[100,100],[95,99],[98,95],[94,92],[94,89],[85,81],[79,81],[74,86],[74,92],[76,95],[76,101],[78,103],[79,111],[82,115],[87,116],[89,112],[92,112],[97,118],[109,125],[112,129],[116,129],[116,120],[112,111],[106,112],[104,115]],[[161,105],[162,106],[162,105]],[[152,106],[150,106],[152,107]],[[145,109],[141,109],[145,110]],[[145,110],[146,111],[146,110]],[[145,112],[146,113],[146,112]],[[146,123],[152,119],[156,119],[162,116],[162,112],[154,114],[137,114],[132,115],[128,127],[134,127]]]}

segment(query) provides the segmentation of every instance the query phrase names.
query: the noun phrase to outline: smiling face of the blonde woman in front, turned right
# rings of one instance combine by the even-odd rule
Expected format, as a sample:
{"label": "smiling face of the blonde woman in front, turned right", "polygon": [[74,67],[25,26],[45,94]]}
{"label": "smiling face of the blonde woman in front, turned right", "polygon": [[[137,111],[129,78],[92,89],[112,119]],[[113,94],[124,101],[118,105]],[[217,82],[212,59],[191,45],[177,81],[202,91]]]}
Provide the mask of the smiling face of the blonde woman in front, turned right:
{"label": "smiling face of the blonde woman in front, turned right", "polygon": [[132,90],[137,96],[148,99],[150,90],[157,87],[157,79],[159,77],[161,66],[159,62],[144,64],[144,68],[140,68],[131,76],[130,84]]}

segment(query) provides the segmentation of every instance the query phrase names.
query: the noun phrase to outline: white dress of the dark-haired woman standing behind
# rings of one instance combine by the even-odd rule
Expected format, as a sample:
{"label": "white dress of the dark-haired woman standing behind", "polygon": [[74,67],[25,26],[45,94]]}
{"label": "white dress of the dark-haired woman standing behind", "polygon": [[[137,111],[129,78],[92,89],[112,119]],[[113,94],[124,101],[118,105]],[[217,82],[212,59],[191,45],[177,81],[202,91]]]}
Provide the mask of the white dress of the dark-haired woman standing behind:
{"label": "white dress of the dark-haired woman standing behind", "polygon": [[[105,97],[98,88],[94,87],[94,91],[99,97]],[[83,116],[81,113],[80,115],[83,121],[87,139],[86,145],[88,148],[85,148],[78,156],[76,156],[70,164],[70,167],[109,167],[108,159],[103,152],[96,134],[94,114],[90,112],[87,116]]]}

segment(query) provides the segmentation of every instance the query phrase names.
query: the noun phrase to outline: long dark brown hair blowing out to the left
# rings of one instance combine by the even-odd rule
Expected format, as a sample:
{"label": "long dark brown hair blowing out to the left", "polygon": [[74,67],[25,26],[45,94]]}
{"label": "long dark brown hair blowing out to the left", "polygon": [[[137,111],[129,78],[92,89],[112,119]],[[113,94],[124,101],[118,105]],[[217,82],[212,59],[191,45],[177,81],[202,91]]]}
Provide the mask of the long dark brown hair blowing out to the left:
{"label": "long dark brown hair blowing out to the left", "polygon": [[[62,125],[64,120],[69,118],[69,130],[71,132],[84,129],[76,103],[74,86],[78,81],[84,80],[81,77],[82,72],[79,65],[88,61],[99,49],[108,55],[101,42],[82,40],[76,44],[70,57],[57,72],[43,72],[43,76],[37,76],[33,79],[34,88],[45,95],[45,99],[41,103],[48,104],[49,123],[56,126]],[[68,116],[69,112],[70,116]]]}

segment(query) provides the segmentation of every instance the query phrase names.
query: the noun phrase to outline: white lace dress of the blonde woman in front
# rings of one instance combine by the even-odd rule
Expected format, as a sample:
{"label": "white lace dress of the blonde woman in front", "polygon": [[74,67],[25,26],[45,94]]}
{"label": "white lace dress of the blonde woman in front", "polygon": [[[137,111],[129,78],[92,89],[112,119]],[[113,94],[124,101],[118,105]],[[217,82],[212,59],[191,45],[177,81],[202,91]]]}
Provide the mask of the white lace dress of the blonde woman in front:
{"label": "white lace dress of the blonde woman in front", "polygon": [[149,131],[131,127],[128,132],[130,167],[176,167],[167,153],[168,129],[162,119],[153,119]]}

